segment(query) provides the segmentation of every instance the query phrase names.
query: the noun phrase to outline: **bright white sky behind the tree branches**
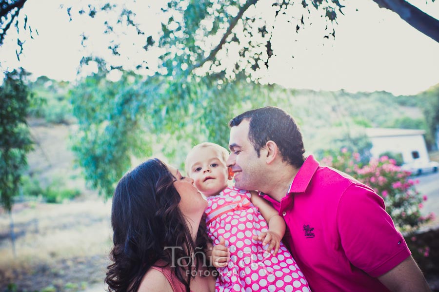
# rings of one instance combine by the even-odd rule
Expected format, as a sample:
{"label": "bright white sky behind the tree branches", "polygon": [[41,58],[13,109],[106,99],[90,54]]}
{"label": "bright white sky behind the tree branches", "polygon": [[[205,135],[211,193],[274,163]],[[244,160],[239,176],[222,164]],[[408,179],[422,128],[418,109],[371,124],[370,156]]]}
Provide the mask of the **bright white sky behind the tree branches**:
{"label": "bright white sky behind the tree branches", "polygon": [[[157,3],[140,2],[143,5]],[[410,2],[439,19],[439,1]],[[321,25],[305,27],[297,41],[285,37],[290,35],[291,28],[285,26],[284,32],[277,31],[272,41],[276,55],[270,59],[267,82],[297,89],[384,90],[394,95],[417,94],[439,83],[438,42],[395,13],[379,8],[372,0],[344,3],[345,15],[339,15],[334,40],[323,39]],[[144,14],[142,18],[155,17],[153,8],[148,10],[145,6],[139,10]],[[104,39],[100,30],[83,21],[69,22],[66,9],[60,8],[59,1],[28,0],[20,13],[21,17],[24,15],[28,16],[28,24],[38,29],[39,35],[26,39],[24,53],[18,61],[17,33],[11,29],[0,47],[1,70],[21,66],[35,77],[45,75],[72,81],[78,78],[77,68],[84,53],[105,48],[101,45]],[[319,21],[310,19],[314,23]],[[82,31],[93,29],[94,43],[82,48]],[[132,59],[136,59],[135,55],[132,54]]]}

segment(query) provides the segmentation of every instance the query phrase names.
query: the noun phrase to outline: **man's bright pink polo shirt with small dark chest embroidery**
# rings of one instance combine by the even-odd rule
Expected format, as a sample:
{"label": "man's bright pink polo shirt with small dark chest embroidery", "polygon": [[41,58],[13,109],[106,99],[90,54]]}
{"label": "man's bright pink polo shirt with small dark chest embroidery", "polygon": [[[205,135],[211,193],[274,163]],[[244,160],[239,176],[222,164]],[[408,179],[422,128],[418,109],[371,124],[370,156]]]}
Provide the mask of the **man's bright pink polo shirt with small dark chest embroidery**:
{"label": "man's bright pink polo shirt with small dark chest embroidery", "polygon": [[371,188],[308,156],[280,202],[284,242],[313,292],[389,291],[376,278],[410,255]]}

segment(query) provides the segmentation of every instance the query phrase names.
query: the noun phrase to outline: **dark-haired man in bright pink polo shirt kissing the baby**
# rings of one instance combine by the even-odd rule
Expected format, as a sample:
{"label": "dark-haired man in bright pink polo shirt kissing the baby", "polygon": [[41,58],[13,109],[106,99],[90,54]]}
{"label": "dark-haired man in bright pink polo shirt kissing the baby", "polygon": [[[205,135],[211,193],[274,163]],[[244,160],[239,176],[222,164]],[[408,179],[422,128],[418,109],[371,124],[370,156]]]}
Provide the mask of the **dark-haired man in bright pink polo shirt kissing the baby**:
{"label": "dark-haired man in bright pink polo shirt kissing the baby", "polygon": [[371,188],[303,154],[283,110],[233,118],[227,165],[240,189],[259,190],[285,219],[284,241],[314,292],[430,291]]}

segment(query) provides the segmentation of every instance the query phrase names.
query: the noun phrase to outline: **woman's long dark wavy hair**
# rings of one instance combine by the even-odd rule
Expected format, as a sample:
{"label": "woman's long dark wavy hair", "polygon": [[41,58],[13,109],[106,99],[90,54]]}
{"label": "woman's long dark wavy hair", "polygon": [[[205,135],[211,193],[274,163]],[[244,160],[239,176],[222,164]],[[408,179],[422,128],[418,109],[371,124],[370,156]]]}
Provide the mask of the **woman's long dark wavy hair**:
{"label": "woman's long dark wavy hair", "polygon": [[[145,273],[158,260],[170,265],[171,272],[190,292],[191,277],[186,271],[194,269],[192,265],[198,270],[203,260],[199,251],[207,248],[205,222],[201,219],[194,243],[178,207],[180,195],[174,181],[159,159],[143,162],[120,179],[111,210],[114,248],[110,257],[114,263],[107,267],[105,277],[110,292],[136,292]],[[191,260],[194,251],[198,257],[195,263]],[[179,267],[181,258],[186,260],[186,267]]]}

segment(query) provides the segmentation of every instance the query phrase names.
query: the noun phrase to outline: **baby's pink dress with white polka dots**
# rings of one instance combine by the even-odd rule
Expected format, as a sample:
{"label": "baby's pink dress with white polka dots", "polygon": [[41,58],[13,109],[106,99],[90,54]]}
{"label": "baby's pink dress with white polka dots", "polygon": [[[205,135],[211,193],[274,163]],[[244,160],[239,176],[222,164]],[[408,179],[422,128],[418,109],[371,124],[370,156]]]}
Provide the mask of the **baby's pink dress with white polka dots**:
{"label": "baby's pink dress with white polka dots", "polygon": [[228,266],[218,269],[216,292],[309,292],[310,288],[291,253],[280,243],[276,256],[268,245],[252,239],[268,225],[250,201],[251,194],[228,187],[207,198],[207,233],[213,243],[224,237],[230,251]]}

